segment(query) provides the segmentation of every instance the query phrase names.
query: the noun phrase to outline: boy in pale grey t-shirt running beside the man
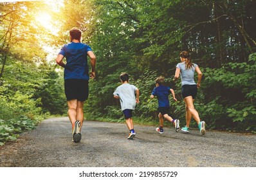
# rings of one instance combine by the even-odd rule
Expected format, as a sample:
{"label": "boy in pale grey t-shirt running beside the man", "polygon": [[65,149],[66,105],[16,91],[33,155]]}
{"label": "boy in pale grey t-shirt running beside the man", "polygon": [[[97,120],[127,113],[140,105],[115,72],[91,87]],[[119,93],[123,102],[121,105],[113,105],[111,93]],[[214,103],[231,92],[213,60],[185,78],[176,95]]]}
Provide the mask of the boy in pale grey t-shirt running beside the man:
{"label": "boy in pale grey t-shirt running beside the man", "polygon": [[[133,110],[135,109],[136,103],[139,103],[139,89],[134,85],[129,84],[129,75],[122,73],[120,75],[122,85],[119,85],[114,91],[114,98],[120,99],[121,108],[125,116],[126,125],[129,129],[128,140],[132,140],[135,136],[133,127]],[[136,94],[136,96],[135,96]]]}

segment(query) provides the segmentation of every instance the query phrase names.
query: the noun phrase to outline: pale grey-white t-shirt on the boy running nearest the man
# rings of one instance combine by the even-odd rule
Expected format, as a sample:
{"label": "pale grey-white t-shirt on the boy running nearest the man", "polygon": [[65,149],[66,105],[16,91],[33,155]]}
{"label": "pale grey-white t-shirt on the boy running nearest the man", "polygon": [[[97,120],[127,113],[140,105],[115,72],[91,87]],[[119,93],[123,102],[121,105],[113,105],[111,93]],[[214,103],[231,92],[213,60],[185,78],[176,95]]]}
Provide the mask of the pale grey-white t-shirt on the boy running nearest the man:
{"label": "pale grey-white t-shirt on the boy running nearest the man", "polygon": [[136,105],[136,89],[134,85],[131,84],[122,84],[116,88],[114,91],[114,96],[120,97],[121,109],[122,111],[125,109],[135,109]]}

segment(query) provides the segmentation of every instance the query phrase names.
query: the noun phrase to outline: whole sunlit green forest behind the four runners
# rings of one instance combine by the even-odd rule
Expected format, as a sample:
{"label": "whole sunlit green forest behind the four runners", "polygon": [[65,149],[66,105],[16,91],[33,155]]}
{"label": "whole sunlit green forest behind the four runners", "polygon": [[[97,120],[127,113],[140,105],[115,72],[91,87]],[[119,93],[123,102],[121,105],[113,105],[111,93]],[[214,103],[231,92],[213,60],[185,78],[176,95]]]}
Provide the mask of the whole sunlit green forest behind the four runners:
{"label": "whole sunlit green forest behind the four runners", "polygon": [[162,75],[178,99],[170,98],[172,116],[185,125],[181,80],[173,78],[186,50],[203,73],[195,106],[206,129],[256,133],[256,1],[6,1],[0,3],[0,145],[45,118],[67,116],[55,58],[73,27],[97,58],[86,120],[123,122],[113,92],[127,72],[140,89],[135,123],[158,124],[150,95]]}

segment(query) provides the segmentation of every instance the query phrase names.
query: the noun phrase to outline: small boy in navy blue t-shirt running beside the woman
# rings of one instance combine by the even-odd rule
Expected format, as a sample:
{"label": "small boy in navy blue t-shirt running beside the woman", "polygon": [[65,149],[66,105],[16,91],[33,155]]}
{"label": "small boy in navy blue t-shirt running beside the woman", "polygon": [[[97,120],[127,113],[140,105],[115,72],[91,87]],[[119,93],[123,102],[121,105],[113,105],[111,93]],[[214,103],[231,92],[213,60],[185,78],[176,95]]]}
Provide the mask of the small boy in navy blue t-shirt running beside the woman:
{"label": "small boy in navy blue t-shirt running beside the woman", "polygon": [[160,134],[163,133],[163,118],[165,118],[165,120],[168,120],[169,122],[173,123],[175,131],[179,132],[179,120],[178,119],[174,120],[169,115],[170,114],[169,94],[172,93],[172,97],[174,101],[177,101],[175,98],[175,93],[173,89],[163,85],[164,83],[165,83],[165,78],[163,76],[156,78],[156,87],[154,87],[154,90],[152,91],[152,94],[151,94],[151,98],[154,98],[154,96],[157,96],[158,111],[160,112],[158,114],[160,127],[157,127],[156,131],[158,131]]}

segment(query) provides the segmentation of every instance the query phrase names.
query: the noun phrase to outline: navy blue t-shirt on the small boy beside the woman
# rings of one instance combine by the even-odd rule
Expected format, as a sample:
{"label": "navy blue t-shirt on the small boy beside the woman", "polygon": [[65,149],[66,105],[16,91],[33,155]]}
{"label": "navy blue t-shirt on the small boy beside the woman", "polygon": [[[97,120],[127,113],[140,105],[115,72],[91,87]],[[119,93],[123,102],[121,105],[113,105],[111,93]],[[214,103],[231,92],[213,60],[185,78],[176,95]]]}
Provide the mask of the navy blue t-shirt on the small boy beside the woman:
{"label": "navy blue t-shirt on the small boy beside the woman", "polygon": [[169,94],[170,87],[165,85],[159,85],[155,87],[151,93],[153,96],[157,96],[158,98],[158,107],[170,107],[169,104]]}

